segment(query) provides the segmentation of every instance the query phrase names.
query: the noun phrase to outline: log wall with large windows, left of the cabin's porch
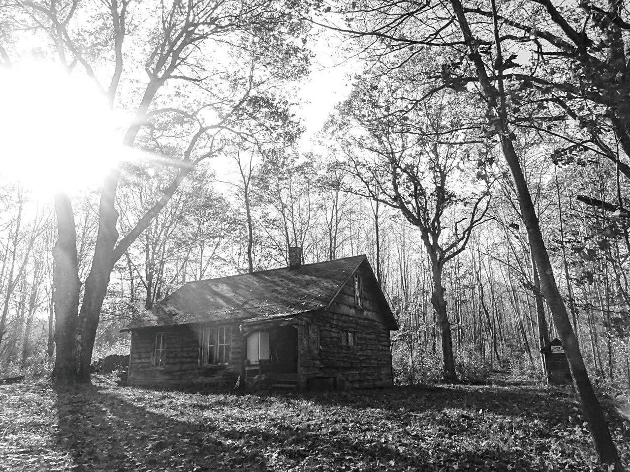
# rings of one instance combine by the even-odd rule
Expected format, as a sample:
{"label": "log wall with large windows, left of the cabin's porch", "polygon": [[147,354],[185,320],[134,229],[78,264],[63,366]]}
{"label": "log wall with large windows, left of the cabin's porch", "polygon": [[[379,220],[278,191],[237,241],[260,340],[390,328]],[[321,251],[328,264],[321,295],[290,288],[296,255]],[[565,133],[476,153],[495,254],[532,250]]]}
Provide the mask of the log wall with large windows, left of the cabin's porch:
{"label": "log wall with large windows, left of the cabin's porch", "polygon": [[[222,323],[221,326],[226,325]],[[238,324],[231,324],[231,362],[225,365],[200,365],[199,336],[205,326],[172,326],[135,330],[129,364],[129,385],[176,385],[183,383],[221,383],[241,373],[245,339]],[[166,362],[151,365],[156,333],[166,333]]]}

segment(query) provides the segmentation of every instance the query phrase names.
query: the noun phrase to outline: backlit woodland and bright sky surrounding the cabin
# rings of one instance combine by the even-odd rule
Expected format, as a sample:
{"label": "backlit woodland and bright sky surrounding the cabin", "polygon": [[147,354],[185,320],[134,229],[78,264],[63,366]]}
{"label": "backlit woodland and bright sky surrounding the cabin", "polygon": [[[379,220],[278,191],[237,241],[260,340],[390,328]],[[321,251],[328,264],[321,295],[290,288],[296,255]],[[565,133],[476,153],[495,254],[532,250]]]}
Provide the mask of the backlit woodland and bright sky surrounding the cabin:
{"label": "backlit woodland and bright sky surrounding the cabin", "polygon": [[366,254],[397,385],[544,384],[559,338],[622,469],[597,401],[630,392],[622,0],[0,11],[0,376],[89,383],[188,281]]}

